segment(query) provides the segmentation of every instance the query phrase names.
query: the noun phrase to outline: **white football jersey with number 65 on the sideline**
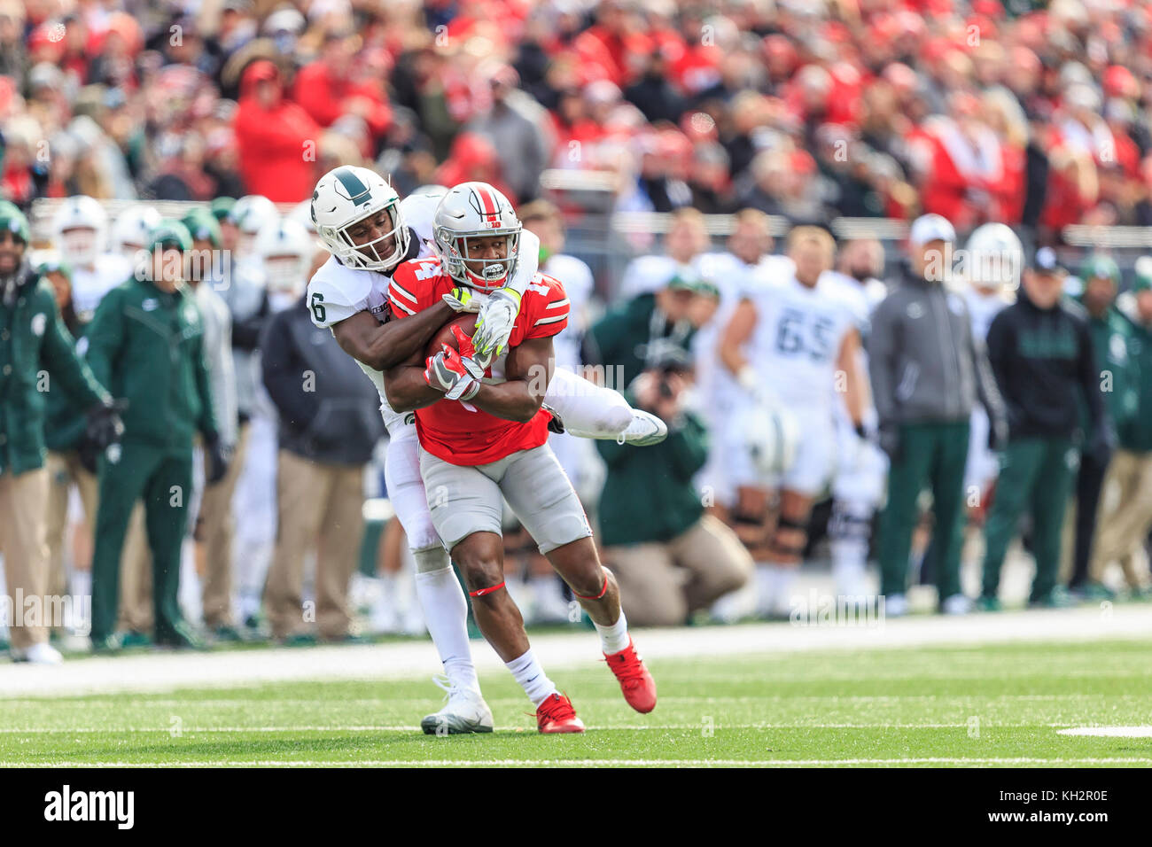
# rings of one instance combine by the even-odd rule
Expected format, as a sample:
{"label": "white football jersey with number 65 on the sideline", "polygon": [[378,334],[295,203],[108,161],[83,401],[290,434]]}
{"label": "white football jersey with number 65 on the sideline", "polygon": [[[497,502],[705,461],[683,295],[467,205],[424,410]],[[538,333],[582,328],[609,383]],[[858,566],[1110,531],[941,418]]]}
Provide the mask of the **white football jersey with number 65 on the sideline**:
{"label": "white football jersey with number 65 on the sideline", "polygon": [[836,358],[844,338],[866,318],[863,297],[846,296],[827,277],[809,288],[793,275],[753,302],[749,361],[795,414],[831,421]]}

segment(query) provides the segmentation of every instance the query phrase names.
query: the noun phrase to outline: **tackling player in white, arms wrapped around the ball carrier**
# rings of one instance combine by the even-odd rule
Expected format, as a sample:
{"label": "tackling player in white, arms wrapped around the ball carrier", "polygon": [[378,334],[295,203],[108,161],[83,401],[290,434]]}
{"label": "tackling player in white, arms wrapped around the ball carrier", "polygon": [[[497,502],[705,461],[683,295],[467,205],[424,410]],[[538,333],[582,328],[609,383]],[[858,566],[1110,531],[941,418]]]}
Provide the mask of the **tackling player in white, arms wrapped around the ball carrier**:
{"label": "tackling player in white, arms wrapped around the ball carrier", "polygon": [[[313,323],[332,330],[380,394],[389,437],[385,460],[388,497],[416,560],[417,596],[447,676],[448,702],[426,716],[420,726],[426,733],[490,732],[492,712],[480,695],[468,642],[468,604],[432,525],[420,479],[415,415],[393,411],[382,371],[423,351],[458,311],[479,313],[472,339],[478,353],[502,353],[521,296],[536,275],[539,241],[528,232],[521,235],[517,270],[506,287],[482,295],[461,286],[435,308],[404,320],[389,320],[391,272],[408,259],[435,255],[431,226],[417,232],[408,224],[431,225],[439,204],[435,194],[412,195],[401,203],[379,174],[347,165],[320,177],[312,195],[312,219],[332,257],[309,282],[308,305]],[[667,436],[662,421],[631,409],[617,392],[559,369],[545,403],[561,421],[570,421],[573,430],[622,437],[637,445],[654,444]]]}

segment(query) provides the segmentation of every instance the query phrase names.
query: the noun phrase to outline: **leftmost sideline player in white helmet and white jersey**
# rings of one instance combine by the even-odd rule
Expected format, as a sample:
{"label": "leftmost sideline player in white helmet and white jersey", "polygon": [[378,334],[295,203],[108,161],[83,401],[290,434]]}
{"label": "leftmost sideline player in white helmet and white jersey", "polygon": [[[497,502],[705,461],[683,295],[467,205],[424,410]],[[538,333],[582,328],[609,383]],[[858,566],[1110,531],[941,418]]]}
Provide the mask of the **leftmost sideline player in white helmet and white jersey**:
{"label": "leftmost sideline player in white helmet and white jersey", "polygon": [[108,213],[85,195],[63,201],[52,215],[52,243],[73,269],[73,308],[82,324],[96,313],[104,295],[132,274],[132,263],[106,252]]}

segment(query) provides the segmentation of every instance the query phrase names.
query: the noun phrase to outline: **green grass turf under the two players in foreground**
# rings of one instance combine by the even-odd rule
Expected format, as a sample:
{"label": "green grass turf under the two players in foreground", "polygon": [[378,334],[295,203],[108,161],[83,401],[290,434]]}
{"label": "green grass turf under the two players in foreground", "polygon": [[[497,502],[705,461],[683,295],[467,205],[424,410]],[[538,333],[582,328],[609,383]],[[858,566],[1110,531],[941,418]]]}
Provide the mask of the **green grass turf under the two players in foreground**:
{"label": "green grass turf under the two players in foreground", "polygon": [[657,660],[660,703],[647,716],[602,666],[552,671],[589,725],[583,736],[538,735],[500,673],[482,678],[497,732],[476,736],[419,732],[440,702],[423,681],[8,699],[0,765],[1147,766],[1152,739],[1056,732],[1152,724],[1147,657],[1146,644],[1120,641]]}

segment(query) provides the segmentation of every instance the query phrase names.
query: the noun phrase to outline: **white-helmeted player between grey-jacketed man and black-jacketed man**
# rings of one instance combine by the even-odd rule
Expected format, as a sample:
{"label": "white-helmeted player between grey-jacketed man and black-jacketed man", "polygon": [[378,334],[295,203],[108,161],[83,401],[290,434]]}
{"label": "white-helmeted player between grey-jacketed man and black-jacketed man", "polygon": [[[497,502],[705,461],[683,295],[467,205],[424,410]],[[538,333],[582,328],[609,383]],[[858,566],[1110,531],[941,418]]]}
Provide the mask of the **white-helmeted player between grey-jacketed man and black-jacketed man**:
{"label": "white-helmeted player between grey-jacketed man and black-jacketed man", "polygon": [[[968,282],[963,288],[964,302],[972,318],[972,338],[983,345],[992,319],[1016,300],[1024,247],[1008,225],[984,224],[968,236],[964,251]],[[983,504],[999,474],[1000,461],[988,447],[988,414],[978,404],[972,409],[964,489],[971,491],[976,486]]]}

